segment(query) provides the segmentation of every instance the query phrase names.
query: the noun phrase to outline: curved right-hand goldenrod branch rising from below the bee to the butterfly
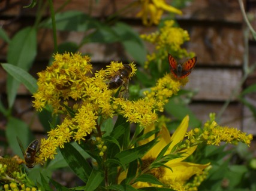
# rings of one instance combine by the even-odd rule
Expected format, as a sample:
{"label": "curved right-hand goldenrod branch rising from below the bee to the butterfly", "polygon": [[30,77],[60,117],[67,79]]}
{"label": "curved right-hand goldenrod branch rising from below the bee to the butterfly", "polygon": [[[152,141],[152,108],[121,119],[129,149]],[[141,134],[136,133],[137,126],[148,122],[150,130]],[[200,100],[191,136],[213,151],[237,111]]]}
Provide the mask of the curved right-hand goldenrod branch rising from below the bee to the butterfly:
{"label": "curved right-hand goldenrod branch rising from below the bee to the butterfly", "polygon": [[150,91],[144,91],[144,98],[136,101],[114,98],[114,109],[127,118],[128,122],[140,123],[143,127],[148,127],[158,119],[156,111],[163,112],[168,98],[176,94],[180,86],[185,85],[186,82],[188,79],[176,81],[169,73],[158,79],[155,87],[150,88]]}

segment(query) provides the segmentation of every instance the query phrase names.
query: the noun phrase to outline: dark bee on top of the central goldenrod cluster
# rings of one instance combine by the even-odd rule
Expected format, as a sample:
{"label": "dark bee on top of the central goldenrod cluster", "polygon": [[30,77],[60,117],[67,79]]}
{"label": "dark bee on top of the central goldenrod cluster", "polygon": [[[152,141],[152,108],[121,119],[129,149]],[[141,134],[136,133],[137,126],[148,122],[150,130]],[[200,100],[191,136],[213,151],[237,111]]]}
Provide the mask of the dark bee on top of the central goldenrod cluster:
{"label": "dark bee on top of the central goldenrod cluster", "polygon": [[131,74],[131,72],[131,66],[129,66],[129,64],[124,64],[124,66],[119,69],[110,79],[108,83],[109,90],[115,90],[116,88],[122,86],[122,90],[119,91],[119,97],[124,97],[125,99],[128,99],[129,75]]}

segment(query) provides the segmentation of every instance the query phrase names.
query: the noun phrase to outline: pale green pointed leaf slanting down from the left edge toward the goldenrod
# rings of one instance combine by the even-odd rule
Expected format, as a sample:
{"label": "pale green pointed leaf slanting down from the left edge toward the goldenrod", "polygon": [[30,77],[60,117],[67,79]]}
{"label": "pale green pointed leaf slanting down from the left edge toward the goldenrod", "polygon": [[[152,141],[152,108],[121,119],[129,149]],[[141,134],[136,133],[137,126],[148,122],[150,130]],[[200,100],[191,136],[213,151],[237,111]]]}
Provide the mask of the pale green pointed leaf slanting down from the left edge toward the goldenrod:
{"label": "pale green pointed leaf slanting down from the left edge toward the goldenrod", "polygon": [[2,64],[2,67],[18,82],[25,85],[31,94],[37,92],[37,80],[28,72],[20,67],[13,66],[12,64]]}

